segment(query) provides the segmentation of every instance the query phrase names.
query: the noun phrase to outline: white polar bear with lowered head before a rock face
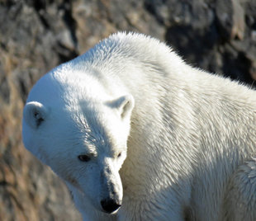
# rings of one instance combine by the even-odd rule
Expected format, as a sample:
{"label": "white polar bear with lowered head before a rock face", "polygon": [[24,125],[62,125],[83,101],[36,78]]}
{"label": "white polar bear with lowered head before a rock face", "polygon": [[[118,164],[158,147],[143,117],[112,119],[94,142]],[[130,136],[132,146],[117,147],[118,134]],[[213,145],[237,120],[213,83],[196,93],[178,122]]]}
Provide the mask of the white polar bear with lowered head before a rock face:
{"label": "white polar bear with lowered head before a rock face", "polygon": [[256,220],[256,92],[117,33],[32,88],[23,142],[83,220]]}

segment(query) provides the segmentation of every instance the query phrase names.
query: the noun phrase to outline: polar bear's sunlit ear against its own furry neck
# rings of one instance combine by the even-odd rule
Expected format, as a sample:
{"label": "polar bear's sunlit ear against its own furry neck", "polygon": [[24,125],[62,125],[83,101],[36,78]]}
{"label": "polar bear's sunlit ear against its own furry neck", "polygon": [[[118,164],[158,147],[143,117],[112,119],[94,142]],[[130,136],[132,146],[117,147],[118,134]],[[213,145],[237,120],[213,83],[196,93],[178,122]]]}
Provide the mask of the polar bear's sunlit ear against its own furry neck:
{"label": "polar bear's sunlit ear against its own furry neck", "polygon": [[135,106],[135,101],[133,96],[126,95],[126,96],[118,97],[116,100],[111,101],[109,105],[112,108],[117,109],[117,111],[121,115],[121,119],[125,119],[127,116],[130,116],[131,111]]}

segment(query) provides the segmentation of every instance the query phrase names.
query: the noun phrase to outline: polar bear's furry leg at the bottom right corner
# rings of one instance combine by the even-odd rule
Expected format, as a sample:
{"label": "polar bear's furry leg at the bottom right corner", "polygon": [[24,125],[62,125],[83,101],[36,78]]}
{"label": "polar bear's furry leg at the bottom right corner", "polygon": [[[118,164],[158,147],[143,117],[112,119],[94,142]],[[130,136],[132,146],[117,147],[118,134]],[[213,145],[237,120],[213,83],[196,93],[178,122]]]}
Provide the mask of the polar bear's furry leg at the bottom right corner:
{"label": "polar bear's furry leg at the bottom right corner", "polygon": [[228,184],[224,216],[227,221],[256,220],[256,158],[240,165]]}

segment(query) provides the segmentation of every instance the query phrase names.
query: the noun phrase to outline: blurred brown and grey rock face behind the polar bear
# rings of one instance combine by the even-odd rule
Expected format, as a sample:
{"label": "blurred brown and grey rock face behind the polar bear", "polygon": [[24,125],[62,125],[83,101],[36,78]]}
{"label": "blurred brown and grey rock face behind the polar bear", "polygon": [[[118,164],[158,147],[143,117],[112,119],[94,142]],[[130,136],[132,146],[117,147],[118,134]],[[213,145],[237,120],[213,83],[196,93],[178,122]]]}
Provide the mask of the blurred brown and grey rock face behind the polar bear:
{"label": "blurred brown and grey rock face behind the polar bear", "polygon": [[81,220],[63,182],[23,148],[22,108],[40,76],[116,31],[153,35],[254,87],[254,0],[0,0],[0,220]]}

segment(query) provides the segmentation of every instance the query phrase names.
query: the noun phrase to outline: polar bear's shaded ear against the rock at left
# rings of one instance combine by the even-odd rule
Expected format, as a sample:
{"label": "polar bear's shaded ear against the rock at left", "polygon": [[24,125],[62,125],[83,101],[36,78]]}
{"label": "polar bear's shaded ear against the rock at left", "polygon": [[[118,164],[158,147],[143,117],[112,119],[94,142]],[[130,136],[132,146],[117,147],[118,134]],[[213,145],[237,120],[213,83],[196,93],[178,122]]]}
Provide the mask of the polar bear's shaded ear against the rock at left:
{"label": "polar bear's shaded ear against the rock at left", "polygon": [[43,121],[45,121],[47,110],[45,106],[36,101],[31,101],[26,104],[23,111],[23,119],[27,125],[37,129]]}

